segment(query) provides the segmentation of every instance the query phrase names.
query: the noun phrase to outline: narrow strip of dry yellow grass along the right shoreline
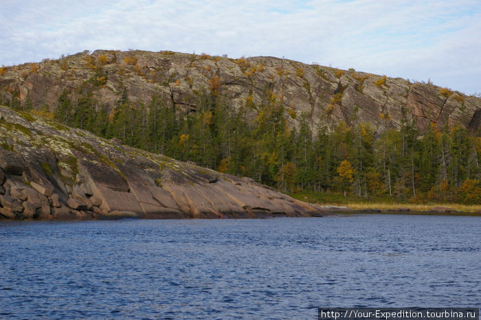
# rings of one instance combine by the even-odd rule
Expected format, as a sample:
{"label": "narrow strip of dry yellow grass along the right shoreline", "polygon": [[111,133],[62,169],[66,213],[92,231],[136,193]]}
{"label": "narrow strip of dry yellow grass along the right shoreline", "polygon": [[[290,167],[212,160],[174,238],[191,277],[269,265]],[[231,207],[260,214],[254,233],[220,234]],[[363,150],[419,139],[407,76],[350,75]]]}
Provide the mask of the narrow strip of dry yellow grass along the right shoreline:
{"label": "narrow strip of dry yellow grass along the right shoreline", "polygon": [[400,209],[410,209],[414,212],[436,212],[436,209],[443,207],[449,208],[456,212],[479,212],[481,211],[481,205],[461,205],[458,203],[439,203],[435,205],[416,205],[412,203],[399,204],[399,203],[350,203],[346,205],[350,209],[354,210],[365,210],[365,209],[379,209],[381,211],[388,210],[400,210]]}

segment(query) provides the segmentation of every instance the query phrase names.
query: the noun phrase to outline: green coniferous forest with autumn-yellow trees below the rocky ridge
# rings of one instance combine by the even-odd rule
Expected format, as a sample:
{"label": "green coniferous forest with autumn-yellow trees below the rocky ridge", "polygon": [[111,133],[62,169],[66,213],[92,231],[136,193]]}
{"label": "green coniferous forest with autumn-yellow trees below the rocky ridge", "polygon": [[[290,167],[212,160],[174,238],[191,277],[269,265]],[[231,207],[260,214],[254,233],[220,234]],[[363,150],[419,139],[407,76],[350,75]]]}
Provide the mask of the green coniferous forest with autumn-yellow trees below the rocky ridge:
{"label": "green coniferous forest with autumn-yellow trees below the rocky ridge", "polygon": [[406,117],[399,130],[379,133],[370,124],[311,124],[301,115],[296,129],[289,128],[292,115],[269,91],[262,104],[247,101],[240,109],[225,103],[215,87],[197,98],[196,111],[187,112],[156,96],[148,106],[131,102],[124,93],[108,113],[91,93],[71,102],[64,91],[55,112],[45,115],[282,192],[481,203],[481,138],[460,126],[432,124],[421,135]]}

